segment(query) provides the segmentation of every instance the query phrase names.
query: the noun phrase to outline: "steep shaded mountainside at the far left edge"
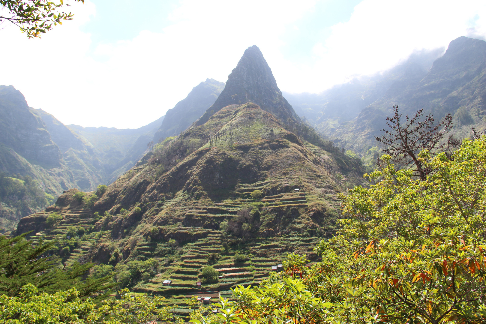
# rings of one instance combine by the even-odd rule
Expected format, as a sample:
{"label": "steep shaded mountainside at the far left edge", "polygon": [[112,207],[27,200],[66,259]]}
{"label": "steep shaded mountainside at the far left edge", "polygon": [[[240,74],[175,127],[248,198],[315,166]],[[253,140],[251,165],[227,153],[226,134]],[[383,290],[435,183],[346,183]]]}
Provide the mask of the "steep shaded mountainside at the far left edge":
{"label": "steep shaded mountainside at the far left edge", "polygon": [[0,116],[0,230],[12,230],[77,184],[46,124],[13,86],[0,86]]}

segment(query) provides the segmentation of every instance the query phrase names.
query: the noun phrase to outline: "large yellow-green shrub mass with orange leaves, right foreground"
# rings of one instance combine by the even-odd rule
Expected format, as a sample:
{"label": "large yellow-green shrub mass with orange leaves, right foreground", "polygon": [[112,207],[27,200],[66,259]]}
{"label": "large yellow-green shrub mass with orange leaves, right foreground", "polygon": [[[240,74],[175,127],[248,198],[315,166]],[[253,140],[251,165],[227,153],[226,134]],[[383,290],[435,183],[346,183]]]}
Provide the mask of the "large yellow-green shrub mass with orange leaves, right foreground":
{"label": "large yellow-green shrub mass with orange leaves, right foreground", "polygon": [[322,261],[289,255],[283,273],[191,322],[484,323],[485,154],[486,137],[450,157],[424,150],[424,180],[383,155],[374,185],[341,195],[347,217],[314,249]]}

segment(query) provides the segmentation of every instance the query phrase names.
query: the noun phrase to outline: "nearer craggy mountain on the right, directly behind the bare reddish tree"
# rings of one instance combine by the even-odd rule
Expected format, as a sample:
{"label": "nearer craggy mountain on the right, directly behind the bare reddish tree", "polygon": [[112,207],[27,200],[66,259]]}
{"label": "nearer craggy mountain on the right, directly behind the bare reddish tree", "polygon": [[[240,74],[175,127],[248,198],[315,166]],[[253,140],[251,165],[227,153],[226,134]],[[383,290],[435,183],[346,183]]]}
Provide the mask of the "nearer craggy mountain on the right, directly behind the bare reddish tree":
{"label": "nearer craggy mountain on the right, directly behind the bare reddish tree", "polygon": [[[451,134],[467,136],[472,127],[486,128],[483,98],[486,93],[486,42],[459,37],[451,41],[444,55],[426,71],[410,66],[394,82],[382,98],[367,106],[349,125],[343,125],[335,136],[343,145],[365,152],[375,143],[384,127],[384,118],[391,115],[391,107],[399,105],[404,115],[424,109],[440,120],[453,116]],[[376,145],[376,144],[375,144]]]}

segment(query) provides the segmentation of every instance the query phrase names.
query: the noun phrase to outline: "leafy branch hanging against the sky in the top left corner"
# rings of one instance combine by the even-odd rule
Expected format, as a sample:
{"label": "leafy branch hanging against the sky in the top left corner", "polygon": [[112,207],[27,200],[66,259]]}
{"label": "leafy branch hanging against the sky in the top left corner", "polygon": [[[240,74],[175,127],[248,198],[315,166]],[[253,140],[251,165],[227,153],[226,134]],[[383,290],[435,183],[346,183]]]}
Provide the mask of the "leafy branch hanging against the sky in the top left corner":
{"label": "leafy branch hanging against the sky in the top left corner", "polygon": [[[83,2],[84,0],[75,0]],[[71,13],[60,11],[64,4],[63,0],[55,3],[49,0],[0,0],[3,7],[0,21],[6,20],[17,25],[27,37],[39,37],[52,29],[52,25],[62,25],[63,20],[71,20],[74,16]]]}

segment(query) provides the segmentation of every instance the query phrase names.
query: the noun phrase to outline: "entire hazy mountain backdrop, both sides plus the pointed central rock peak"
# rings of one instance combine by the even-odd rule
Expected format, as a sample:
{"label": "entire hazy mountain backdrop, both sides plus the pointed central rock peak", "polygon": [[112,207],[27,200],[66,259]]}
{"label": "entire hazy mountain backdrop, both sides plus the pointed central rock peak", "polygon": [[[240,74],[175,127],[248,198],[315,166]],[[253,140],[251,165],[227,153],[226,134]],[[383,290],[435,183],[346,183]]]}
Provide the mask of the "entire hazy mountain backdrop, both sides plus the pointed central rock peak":
{"label": "entire hazy mountain backdrop, both sides plus the pointed central rock peak", "polygon": [[[473,127],[479,132],[486,128],[486,42],[482,40],[459,37],[445,53],[415,53],[395,68],[320,94],[282,94],[260,54],[256,46],[250,47],[226,84],[213,79],[201,82],[165,116],[138,129],[64,125],[29,107],[13,86],[1,85],[0,178],[6,180],[0,185],[0,227],[11,229],[20,217],[42,209],[70,188],[90,191],[113,183],[139,161],[146,163],[157,143],[193,134],[232,104],[252,102],[275,116],[279,127],[299,136],[301,125],[308,122],[343,152],[350,150],[364,158],[379,149],[374,137],[380,136],[393,105],[399,105],[404,114],[423,108],[436,119],[451,114],[452,134],[459,138],[468,136]],[[205,133],[206,140],[217,132]],[[193,138],[190,151],[199,144]],[[26,189],[30,183],[26,176],[35,180],[45,198],[39,198],[32,185]]]}

